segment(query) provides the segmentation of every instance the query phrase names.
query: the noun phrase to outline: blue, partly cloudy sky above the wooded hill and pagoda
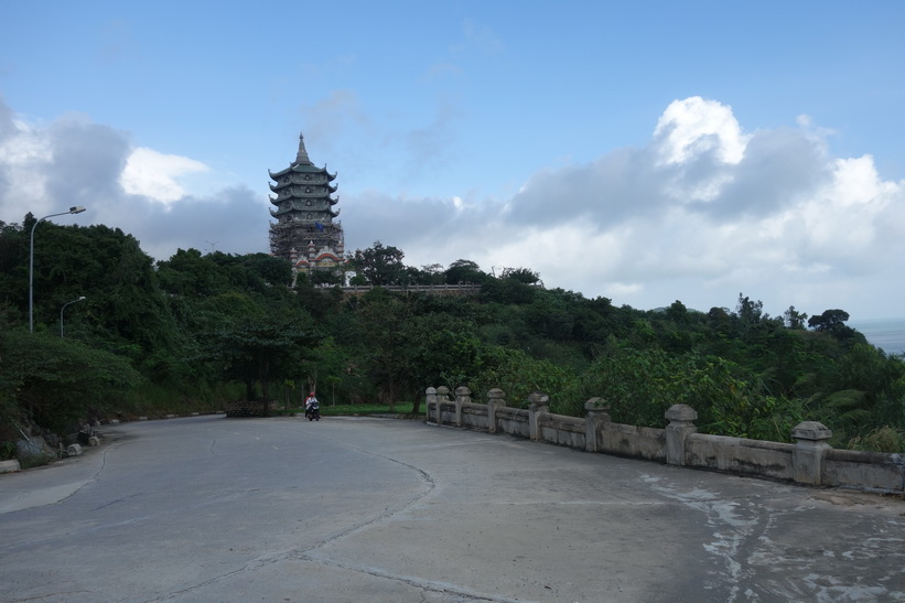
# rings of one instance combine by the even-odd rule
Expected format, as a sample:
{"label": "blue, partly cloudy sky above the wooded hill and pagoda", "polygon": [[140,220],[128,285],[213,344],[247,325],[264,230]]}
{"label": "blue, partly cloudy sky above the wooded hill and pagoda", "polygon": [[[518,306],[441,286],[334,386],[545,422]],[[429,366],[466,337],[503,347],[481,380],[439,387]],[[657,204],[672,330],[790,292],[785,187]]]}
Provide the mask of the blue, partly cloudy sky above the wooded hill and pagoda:
{"label": "blue, partly cloudy sky above the wooded hill and pagoda", "polygon": [[903,31],[897,0],[3,0],[0,220],[267,252],[303,133],[347,251],[901,317]]}

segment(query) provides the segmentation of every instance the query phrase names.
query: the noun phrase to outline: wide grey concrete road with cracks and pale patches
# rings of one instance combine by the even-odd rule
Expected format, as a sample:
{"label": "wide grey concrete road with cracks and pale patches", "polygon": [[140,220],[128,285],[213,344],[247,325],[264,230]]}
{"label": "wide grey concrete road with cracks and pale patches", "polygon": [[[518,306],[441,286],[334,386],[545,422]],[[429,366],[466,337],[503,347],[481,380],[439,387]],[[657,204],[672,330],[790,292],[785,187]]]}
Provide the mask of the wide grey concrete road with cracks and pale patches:
{"label": "wide grey concrete road with cracks and pale patches", "polygon": [[905,502],[417,421],[107,428],[0,475],[2,601],[905,601]]}

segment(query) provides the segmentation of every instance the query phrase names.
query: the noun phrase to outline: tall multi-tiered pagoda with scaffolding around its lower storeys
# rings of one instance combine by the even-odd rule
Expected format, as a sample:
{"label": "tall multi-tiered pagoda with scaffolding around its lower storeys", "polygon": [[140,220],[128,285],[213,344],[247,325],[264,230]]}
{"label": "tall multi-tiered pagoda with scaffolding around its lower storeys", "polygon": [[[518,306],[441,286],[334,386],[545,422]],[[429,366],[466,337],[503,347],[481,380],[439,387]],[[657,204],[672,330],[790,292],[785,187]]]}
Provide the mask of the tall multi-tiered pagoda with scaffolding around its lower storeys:
{"label": "tall multi-tiered pagoda with scaffolding around its lower storeys", "polygon": [[270,252],[292,263],[293,281],[299,272],[309,277],[315,270],[337,271],[343,262],[344,237],[342,223],[334,222],[340,209],[333,206],[340,197],[333,197],[336,174],[317,168],[308,157],[303,134],[299,134],[299,152],[289,168],[279,172],[267,171],[270,196],[276,209],[270,215]]}

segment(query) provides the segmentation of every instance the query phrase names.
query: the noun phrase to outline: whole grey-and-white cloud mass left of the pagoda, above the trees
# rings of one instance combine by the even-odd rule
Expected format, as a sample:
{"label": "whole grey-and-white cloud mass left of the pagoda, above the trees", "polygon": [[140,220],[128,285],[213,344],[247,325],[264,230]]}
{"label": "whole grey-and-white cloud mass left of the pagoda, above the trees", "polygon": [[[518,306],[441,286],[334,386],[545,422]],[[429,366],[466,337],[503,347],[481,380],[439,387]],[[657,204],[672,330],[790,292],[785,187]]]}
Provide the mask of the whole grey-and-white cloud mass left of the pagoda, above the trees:
{"label": "whole grey-and-white cloud mass left of the pagoda, above the trees", "polygon": [[105,224],[141,241],[155,259],[176,249],[268,251],[263,192],[191,191],[204,163],[133,147],[126,132],[67,114],[47,125],[17,119],[0,101],[0,219],[21,223],[83,205],[61,224]]}

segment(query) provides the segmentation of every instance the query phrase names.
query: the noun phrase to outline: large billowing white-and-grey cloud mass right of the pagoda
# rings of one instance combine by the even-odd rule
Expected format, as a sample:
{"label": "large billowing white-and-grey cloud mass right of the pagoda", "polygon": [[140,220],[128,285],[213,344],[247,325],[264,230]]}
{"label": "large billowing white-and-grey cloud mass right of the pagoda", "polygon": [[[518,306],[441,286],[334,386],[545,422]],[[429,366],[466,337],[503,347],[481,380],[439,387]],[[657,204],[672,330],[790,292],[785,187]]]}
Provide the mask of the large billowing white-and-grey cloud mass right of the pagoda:
{"label": "large billowing white-and-grey cloud mass right of the pagoda", "polygon": [[[728,106],[676,101],[648,146],[545,170],[508,200],[403,208],[386,196],[378,222],[373,201],[353,202],[347,223],[368,234],[348,247],[381,239],[416,266],[525,266],[548,287],[636,308],[733,308],[745,292],[775,314],[901,314],[905,183],[883,180],[870,155],[829,157],[829,130],[802,121],[744,134]],[[403,214],[417,217],[396,228]],[[412,227],[429,223],[443,228]]]}

